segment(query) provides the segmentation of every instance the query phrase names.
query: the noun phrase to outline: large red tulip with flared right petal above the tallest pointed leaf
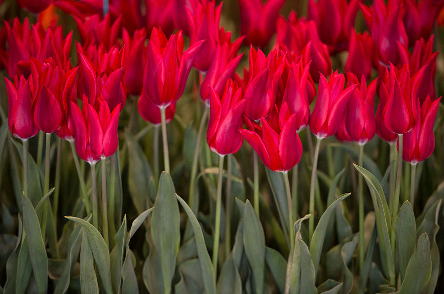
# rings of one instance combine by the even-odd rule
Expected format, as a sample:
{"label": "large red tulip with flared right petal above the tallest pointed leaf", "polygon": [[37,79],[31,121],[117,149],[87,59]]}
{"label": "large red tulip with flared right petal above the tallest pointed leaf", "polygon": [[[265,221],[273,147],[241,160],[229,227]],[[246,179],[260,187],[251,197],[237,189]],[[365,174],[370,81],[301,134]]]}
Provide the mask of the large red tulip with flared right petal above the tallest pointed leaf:
{"label": "large red tulip with flared right petal above the tallest pointed leaf", "polygon": [[167,41],[162,31],[152,30],[147,47],[144,89],[155,105],[167,107],[181,97],[202,42],[195,43],[182,53],[182,32],[172,35]]}

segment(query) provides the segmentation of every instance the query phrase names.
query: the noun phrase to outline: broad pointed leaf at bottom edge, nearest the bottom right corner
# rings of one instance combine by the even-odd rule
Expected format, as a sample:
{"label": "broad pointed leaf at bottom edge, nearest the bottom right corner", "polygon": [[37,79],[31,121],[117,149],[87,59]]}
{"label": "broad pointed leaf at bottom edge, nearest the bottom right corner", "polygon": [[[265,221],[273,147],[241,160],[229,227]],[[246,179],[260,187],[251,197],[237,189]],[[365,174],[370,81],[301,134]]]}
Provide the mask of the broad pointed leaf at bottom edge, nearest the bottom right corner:
{"label": "broad pointed leaf at bottom edge, nearest the bottom right corner", "polygon": [[430,242],[427,233],[418,239],[418,245],[408,261],[406,277],[400,294],[420,294],[432,275],[432,259],[430,257]]}

